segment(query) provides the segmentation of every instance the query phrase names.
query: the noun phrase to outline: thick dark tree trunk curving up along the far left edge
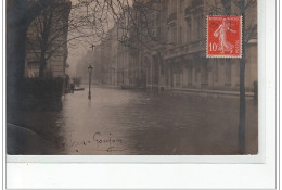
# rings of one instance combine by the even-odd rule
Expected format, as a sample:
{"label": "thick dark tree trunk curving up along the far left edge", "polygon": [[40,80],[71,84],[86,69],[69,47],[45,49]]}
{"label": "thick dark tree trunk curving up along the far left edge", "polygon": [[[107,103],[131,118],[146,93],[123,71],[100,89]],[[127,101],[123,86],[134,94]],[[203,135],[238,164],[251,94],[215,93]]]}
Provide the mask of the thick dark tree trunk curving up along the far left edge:
{"label": "thick dark tree trunk curving up along the far left edge", "polygon": [[53,0],[7,1],[7,71],[8,86],[24,77],[27,28]]}

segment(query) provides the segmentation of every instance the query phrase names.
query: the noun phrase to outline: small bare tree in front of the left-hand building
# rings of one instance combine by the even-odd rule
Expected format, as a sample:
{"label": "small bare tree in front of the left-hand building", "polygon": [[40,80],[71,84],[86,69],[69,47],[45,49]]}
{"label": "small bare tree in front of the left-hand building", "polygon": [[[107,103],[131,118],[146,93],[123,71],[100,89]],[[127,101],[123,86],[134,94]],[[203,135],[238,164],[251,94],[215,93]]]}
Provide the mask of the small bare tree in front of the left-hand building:
{"label": "small bare tree in front of the left-hand building", "polygon": [[[70,2],[54,1],[33,21],[28,29],[28,50],[39,60],[39,77],[43,78],[47,62],[53,58],[65,62]],[[63,59],[63,60],[62,60]]]}

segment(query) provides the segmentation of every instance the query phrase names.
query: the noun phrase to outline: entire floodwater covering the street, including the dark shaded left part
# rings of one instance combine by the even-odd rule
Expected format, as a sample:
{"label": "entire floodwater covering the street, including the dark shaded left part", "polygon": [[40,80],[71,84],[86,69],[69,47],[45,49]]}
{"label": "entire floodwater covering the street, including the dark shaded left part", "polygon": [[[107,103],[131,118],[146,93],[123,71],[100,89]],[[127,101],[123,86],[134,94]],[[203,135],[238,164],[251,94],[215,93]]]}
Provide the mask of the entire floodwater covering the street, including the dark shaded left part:
{"label": "entire floodwater covering the street, including the dark shaded left part", "polygon": [[[101,87],[91,91],[91,100],[88,90],[75,91],[47,103],[49,109],[26,110],[17,125],[28,128],[30,138],[22,139],[20,154],[238,154],[239,99]],[[257,153],[257,105],[247,100],[247,154]],[[30,140],[34,136],[43,143]]]}

